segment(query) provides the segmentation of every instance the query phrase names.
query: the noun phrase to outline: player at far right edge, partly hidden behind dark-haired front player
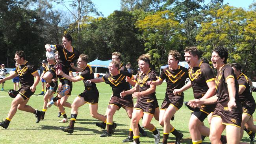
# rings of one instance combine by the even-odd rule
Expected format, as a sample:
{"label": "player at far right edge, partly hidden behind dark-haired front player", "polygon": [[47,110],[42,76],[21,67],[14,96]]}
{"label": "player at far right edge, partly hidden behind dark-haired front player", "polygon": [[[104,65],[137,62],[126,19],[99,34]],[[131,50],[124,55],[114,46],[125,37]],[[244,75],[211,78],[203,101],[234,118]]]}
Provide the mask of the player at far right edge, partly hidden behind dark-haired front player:
{"label": "player at far right edge, partly hidden behind dark-haired front player", "polygon": [[[253,124],[252,114],[255,111],[256,103],[252,96],[252,92],[250,91],[249,78],[241,72],[242,66],[239,63],[232,63],[231,67],[236,74],[236,78],[239,84],[238,95],[243,107],[240,140],[243,137],[244,129],[245,131],[248,131],[248,135],[250,136],[250,143],[254,144],[256,126]],[[245,124],[246,127],[244,127]]]}

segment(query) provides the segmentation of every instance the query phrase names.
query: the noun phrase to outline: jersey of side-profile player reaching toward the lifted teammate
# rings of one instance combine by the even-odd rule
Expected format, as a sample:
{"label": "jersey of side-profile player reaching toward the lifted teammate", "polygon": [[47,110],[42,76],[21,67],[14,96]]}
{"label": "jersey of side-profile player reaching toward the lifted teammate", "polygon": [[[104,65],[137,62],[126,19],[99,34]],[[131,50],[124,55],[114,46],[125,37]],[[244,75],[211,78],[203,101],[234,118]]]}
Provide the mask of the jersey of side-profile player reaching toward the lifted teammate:
{"label": "jersey of side-profile player reaching toward the lifted teammate", "polygon": [[[85,67],[85,69],[82,70],[81,74],[80,74],[80,78],[83,79],[83,83],[84,83],[84,88],[85,90],[87,89],[90,89],[89,86],[87,86],[85,84],[85,82],[88,80],[88,79],[93,79],[94,78],[94,74],[93,74],[93,69],[91,68],[90,65],[87,64],[87,66]],[[96,89],[96,84],[95,83],[91,83],[91,87],[93,87],[94,89]]]}

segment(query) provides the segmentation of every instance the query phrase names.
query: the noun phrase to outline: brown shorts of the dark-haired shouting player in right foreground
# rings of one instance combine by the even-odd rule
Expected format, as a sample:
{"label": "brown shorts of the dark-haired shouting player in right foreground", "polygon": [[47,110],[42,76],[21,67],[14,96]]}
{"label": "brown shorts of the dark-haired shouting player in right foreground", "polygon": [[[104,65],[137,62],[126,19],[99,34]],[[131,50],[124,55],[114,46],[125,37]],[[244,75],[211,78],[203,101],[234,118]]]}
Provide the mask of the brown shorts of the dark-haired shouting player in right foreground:
{"label": "brown shorts of the dark-haired shouting player in right foreground", "polygon": [[224,125],[232,125],[236,127],[241,127],[242,122],[242,113],[233,113],[232,111],[228,111],[228,109],[219,109],[216,107],[214,113],[211,117],[219,117],[222,119],[222,124]]}

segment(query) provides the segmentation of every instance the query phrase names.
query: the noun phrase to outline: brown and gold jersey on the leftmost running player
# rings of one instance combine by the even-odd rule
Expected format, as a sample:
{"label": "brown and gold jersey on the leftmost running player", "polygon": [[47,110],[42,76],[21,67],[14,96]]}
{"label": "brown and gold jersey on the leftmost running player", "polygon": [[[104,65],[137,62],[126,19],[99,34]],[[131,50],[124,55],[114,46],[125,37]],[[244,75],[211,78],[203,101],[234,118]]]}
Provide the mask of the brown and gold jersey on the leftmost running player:
{"label": "brown and gold jersey on the leftmost running player", "polygon": [[21,86],[31,87],[34,83],[32,74],[37,73],[37,68],[26,61],[24,65],[17,66],[15,72],[19,76]]}

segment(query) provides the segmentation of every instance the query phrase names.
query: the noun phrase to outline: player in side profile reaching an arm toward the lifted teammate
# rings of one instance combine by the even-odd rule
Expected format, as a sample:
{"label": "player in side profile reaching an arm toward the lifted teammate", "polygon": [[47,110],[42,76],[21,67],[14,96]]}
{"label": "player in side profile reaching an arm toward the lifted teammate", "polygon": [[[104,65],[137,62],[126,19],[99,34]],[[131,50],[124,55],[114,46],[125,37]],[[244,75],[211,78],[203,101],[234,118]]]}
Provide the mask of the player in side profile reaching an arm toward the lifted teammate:
{"label": "player in side profile reaching an arm toward the lifted teammate", "polygon": [[106,121],[106,117],[98,113],[98,97],[99,92],[95,83],[86,83],[87,79],[93,79],[94,74],[90,65],[88,65],[89,57],[88,55],[81,54],[78,58],[77,65],[79,68],[82,68],[82,73],[80,76],[71,77],[67,74],[64,74],[62,70],[58,70],[58,75],[63,76],[64,78],[69,79],[72,82],[83,80],[85,90],[79,94],[72,103],[70,123],[67,127],[61,127],[61,130],[67,133],[73,133],[74,123],[76,122],[76,117],[78,114],[78,108],[84,105],[85,103],[89,104],[89,109],[91,116],[102,122]]}

